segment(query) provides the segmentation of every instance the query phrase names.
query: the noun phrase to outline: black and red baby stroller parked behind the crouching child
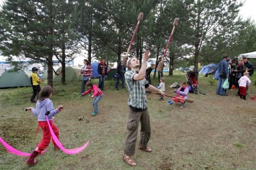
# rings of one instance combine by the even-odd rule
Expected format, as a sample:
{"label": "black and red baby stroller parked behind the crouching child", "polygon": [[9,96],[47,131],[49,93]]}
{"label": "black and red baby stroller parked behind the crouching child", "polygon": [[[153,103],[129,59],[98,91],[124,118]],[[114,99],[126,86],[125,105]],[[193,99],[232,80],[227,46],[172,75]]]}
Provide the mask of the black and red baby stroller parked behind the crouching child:
{"label": "black and red baby stroller parked behind the crouching child", "polygon": [[199,94],[198,71],[191,71],[189,69],[184,69],[183,74],[186,77],[186,80],[188,82],[189,91],[193,91],[195,94]]}

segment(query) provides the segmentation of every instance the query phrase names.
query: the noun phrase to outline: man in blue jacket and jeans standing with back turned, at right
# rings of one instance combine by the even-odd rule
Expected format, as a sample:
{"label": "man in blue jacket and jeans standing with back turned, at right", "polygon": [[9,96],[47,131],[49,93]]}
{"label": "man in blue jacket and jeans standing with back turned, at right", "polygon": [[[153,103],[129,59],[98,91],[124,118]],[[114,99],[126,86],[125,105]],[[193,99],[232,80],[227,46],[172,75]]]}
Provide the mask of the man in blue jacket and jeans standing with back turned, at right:
{"label": "man in blue jacket and jeans standing with back turned, at right", "polygon": [[228,56],[224,55],[223,59],[218,63],[218,85],[216,94],[221,96],[228,96],[228,94],[225,93],[225,89],[222,88],[223,83],[226,79],[228,79],[229,71],[228,71],[228,64],[227,64]]}

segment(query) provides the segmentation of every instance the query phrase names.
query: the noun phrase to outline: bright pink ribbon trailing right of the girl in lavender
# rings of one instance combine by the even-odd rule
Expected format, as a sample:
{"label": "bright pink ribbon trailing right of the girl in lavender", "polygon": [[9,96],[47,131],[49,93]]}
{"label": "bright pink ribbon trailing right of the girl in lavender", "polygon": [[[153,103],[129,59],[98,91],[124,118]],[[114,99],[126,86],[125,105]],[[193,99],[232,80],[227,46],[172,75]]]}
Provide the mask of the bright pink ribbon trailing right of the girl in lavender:
{"label": "bright pink ribbon trailing right of the girl in lavender", "polygon": [[83,146],[81,147],[78,147],[78,148],[74,148],[74,149],[65,149],[61,142],[58,140],[57,136],[54,134],[53,130],[52,130],[52,127],[50,125],[50,122],[49,122],[49,119],[48,119],[48,116],[46,116],[46,119],[47,119],[47,123],[49,125],[49,129],[50,129],[50,132],[52,134],[52,139],[54,140],[54,142],[57,144],[57,146],[64,152],[64,153],[67,153],[69,155],[71,154],[77,154],[77,153],[80,153],[82,152],[89,144],[89,141],[87,141]]}

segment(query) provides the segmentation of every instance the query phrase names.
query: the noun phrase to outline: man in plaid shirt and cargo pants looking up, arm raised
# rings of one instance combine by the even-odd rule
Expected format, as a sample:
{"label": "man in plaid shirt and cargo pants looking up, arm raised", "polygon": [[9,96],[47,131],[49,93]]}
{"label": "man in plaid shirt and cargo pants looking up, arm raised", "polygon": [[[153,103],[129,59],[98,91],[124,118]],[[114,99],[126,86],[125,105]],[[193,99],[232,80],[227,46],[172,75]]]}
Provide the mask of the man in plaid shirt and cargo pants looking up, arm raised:
{"label": "man in plaid shirt and cargo pants looking up, arm raised", "polygon": [[[129,114],[127,129],[128,133],[125,141],[125,153],[123,155],[123,160],[131,165],[136,166],[137,164],[131,156],[134,155],[139,122],[141,122],[140,130],[140,144],[138,148],[145,152],[151,152],[152,150],[148,147],[148,141],[150,139],[150,121],[149,114],[147,110],[147,98],[145,93],[145,88],[148,90],[155,91],[165,96],[165,93],[149,85],[145,79],[145,72],[147,67],[147,61],[149,58],[149,50],[145,52],[142,64],[140,68],[140,63],[137,58],[131,58],[128,61],[128,70],[125,73],[125,81],[128,87],[130,97],[128,99]],[[140,71],[139,71],[140,68]]]}

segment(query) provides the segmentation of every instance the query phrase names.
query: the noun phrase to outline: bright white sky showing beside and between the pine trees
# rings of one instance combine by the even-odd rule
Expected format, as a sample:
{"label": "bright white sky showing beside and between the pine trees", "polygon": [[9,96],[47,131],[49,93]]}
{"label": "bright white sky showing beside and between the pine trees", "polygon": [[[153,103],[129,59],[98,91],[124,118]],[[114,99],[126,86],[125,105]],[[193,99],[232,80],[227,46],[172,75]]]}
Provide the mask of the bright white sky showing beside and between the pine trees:
{"label": "bright white sky showing beside and between the pine trees", "polygon": [[[256,0],[241,0],[242,2],[244,2],[244,6],[241,7],[240,9],[240,15],[242,16],[242,18],[244,20],[246,20],[247,18],[251,18],[252,20],[254,20],[254,22],[256,23]],[[0,0],[0,6],[3,5],[4,0]],[[1,9],[1,7],[0,7]],[[84,54],[85,56],[87,56],[86,54]],[[75,59],[74,64],[78,65],[79,63],[81,64],[83,62],[84,57],[78,57]],[[5,61],[5,57],[0,56],[0,61]]]}

